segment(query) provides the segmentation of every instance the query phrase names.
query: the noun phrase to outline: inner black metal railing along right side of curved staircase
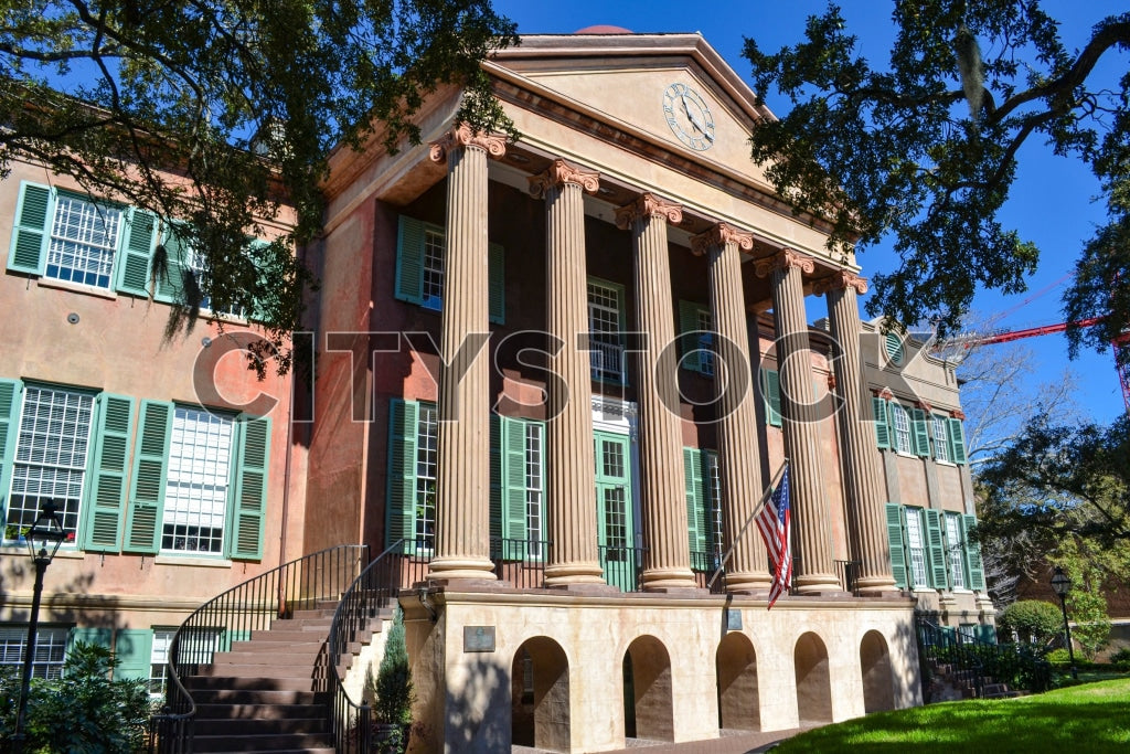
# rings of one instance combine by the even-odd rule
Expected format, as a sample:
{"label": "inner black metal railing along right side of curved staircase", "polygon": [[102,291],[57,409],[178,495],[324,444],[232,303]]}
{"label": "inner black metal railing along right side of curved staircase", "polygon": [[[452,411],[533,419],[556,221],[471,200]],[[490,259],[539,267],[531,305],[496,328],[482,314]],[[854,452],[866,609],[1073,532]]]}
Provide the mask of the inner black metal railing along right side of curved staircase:
{"label": "inner black metal railing along right side of curved staircase", "polygon": [[420,571],[431,560],[426,553],[423,540],[409,547],[405,547],[403,539],[397,541],[349,584],[333,613],[325,652],[330,679],[325,713],[334,751],[341,754],[367,754],[373,735],[372,710],[364,697],[359,702],[350,699],[339,669],[341,658],[355,653],[353,644],[370,630],[370,622],[392,604],[402,586],[420,580]]}

